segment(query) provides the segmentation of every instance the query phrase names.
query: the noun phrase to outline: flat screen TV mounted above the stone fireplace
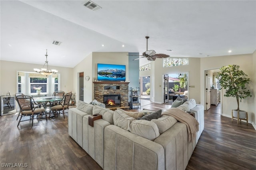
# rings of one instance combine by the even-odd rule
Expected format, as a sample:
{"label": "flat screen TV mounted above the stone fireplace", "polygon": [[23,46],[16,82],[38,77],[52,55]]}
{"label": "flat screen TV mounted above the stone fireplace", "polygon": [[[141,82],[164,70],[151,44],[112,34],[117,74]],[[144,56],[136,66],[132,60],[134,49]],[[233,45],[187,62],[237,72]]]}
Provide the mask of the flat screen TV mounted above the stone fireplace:
{"label": "flat screen TV mounted above the stone fireplace", "polygon": [[99,64],[98,81],[125,81],[125,65]]}

